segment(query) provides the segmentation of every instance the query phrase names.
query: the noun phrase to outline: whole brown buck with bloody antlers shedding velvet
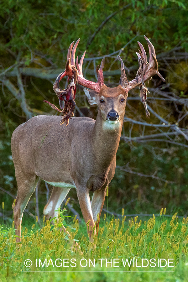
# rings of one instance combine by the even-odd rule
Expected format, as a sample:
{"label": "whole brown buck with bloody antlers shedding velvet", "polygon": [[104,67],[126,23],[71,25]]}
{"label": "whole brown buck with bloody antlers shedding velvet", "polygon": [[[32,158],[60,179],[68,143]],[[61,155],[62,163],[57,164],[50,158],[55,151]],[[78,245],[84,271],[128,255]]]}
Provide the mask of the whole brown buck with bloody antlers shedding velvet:
{"label": "whole brown buck with bloody antlers shedding velvet", "polygon": [[[39,179],[53,186],[49,201],[44,207],[46,219],[57,217],[57,210],[71,188],[76,188],[78,201],[83,218],[87,224],[87,232],[92,242],[93,235],[98,234],[99,220],[105,201],[107,187],[110,184],[116,168],[116,153],[118,150],[128,91],[140,87],[142,102],[145,102],[148,92],[145,82],[159,74],[158,62],[154,46],[144,36],[149,47],[149,63],[143,45],[138,42],[139,70],[136,77],[128,81],[123,60],[121,62],[121,78],[117,87],[107,87],[103,78],[103,60],[100,68],[97,66],[97,82],[86,80],[82,73],[82,64],[86,51],[78,57],[75,64],[75,53],[79,43],[70,44],[66,68],[55,83],[54,90],[58,93],[71,91],[70,100],[66,100],[69,111],[65,118],[61,116],[39,115],[30,118],[19,125],[13,132],[11,148],[18,194],[13,204],[16,241],[21,242],[21,223],[25,207]],[[74,45],[74,47],[73,47]],[[62,92],[59,82],[68,76],[71,87]],[[98,106],[96,120],[87,117],[71,117],[75,102],[75,84],[86,87],[90,105]],[[147,109],[147,107],[146,107]],[[70,112],[70,113],[69,113]],[[147,112],[146,112],[147,113]],[[67,124],[69,120],[69,124]],[[89,192],[92,191],[90,201]]]}

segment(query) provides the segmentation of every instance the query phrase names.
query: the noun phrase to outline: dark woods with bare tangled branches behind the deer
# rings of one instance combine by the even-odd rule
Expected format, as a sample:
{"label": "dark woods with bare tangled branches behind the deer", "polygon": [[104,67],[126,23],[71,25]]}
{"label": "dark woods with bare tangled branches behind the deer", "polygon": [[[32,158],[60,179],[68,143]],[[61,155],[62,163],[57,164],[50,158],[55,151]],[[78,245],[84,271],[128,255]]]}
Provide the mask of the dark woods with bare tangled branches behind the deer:
{"label": "dark woods with bare tangled branches behind the deer", "polygon": [[[58,106],[53,82],[65,69],[70,43],[81,38],[76,53],[79,59],[86,50],[84,77],[96,81],[96,67],[105,58],[105,84],[114,87],[121,75],[117,55],[129,80],[138,70],[137,40],[149,56],[143,35],[155,47],[159,72],[166,82],[154,76],[146,83],[150,119],[139,88],[129,92],[108,211],[119,214],[124,207],[125,214],[150,214],[166,207],[168,214],[178,209],[180,216],[187,216],[187,2],[8,0],[2,1],[0,8],[0,199],[5,203],[4,219],[12,220],[17,193],[12,132],[34,115],[57,114],[42,100]],[[66,85],[62,80],[60,87]],[[75,115],[95,118],[96,114],[97,108],[87,103],[78,86]],[[38,183],[25,211],[42,216],[50,190],[43,181]],[[69,196],[68,209],[79,214],[76,191]],[[0,217],[2,213],[0,210]]]}

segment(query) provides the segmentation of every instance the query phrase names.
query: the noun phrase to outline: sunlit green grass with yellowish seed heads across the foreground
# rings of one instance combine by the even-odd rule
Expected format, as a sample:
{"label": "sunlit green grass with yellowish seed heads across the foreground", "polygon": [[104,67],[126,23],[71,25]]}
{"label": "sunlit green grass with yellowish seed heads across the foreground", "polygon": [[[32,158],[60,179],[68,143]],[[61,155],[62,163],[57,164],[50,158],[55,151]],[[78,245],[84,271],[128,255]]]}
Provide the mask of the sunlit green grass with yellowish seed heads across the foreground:
{"label": "sunlit green grass with yellowish seed heads across the foreground", "polygon": [[[124,216],[121,220],[112,217],[111,221],[107,221],[105,215],[98,237],[94,235],[92,243],[80,232],[84,227],[80,228],[75,218],[71,226],[67,227],[70,238],[61,232],[60,227],[62,223],[65,224],[62,213],[59,222],[55,222],[55,225],[46,221],[43,222],[42,228],[39,228],[39,225],[36,228],[37,223],[29,231],[25,227],[22,231],[22,244],[16,244],[14,223],[11,228],[1,226],[0,281],[188,281],[188,218],[179,220],[175,213],[172,219],[166,220],[164,213],[162,209],[160,217],[156,219],[153,215],[147,222],[142,222],[138,217],[127,220]],[[76,247],[73,239],[77,240],[80,248]],[[31,267],[24,265],[26,259],[33,262]],[[126,259],[129,264],[132,259],[130,266],[127,263],[123,266]],[[160,264],[158,266],[158,259],[159,263],[162,259],[162,266]],[[163,267],[165,260],[168,262],[168,259],[169,262],[173,262],[170,266],[174,267],[168,265]],[[112,261],[112,265],[107,264],[106,267],[106,260]],[[144,267],[147,260],[151,266]],[[41,262],[44,264],[43,267]],[[154,263],[156,266],[152,267]],[[43,271],[43,273],[24,273],[24,271]],[[44,271],[59,273],[44,273]],[[84,271],[93,271],[93,273],[84,273]],[[121,271],[127,273],[120,273]],[[174,273],[165,273],[165,271],[174,271]]]}

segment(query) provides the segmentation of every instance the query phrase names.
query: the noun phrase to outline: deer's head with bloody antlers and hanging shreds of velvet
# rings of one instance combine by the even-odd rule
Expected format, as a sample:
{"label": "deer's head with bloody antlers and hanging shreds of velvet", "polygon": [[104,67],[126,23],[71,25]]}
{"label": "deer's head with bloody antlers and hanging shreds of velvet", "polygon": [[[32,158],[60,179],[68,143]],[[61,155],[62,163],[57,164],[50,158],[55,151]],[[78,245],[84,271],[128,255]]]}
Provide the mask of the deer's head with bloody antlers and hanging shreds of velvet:
{"label": "deer's head with bloody antlers and hanging shreds of velvet", "polygon": [[[121,62],[121,78],[120,78],[119,86],[114,88],[110,88],[104,85],[104,78],[102,72],[103,60],[101,62],[100,68],[98,68],[97,66],[97,77],[98,77],[97,82],[86,80],[83,77],[83,73],[82,73],[82,64],[86,51],[82,55],[80,63],[78,62],[78,57],[77,57],[75,64],[75,53],[80,39],[76,41],[75,45],[74,45],[74,41],[70,44],[67,54],[65,71],[57,77],[54,83],[54,91],[57,94],[59,101],[61,100],[65,101],[65,106],[63,109],[63,113],[65,114],[65,116],[61,123],[66,121],[66,124],[68,124],[67,119],[70,118],[72,111],[74,109],[76,82],[88,88],[88,89],[86,88],[83,89],[86,94],[88,102],[91,105],[93,104],[98,105],[103,120],[107,121],[108,123],[116,124],[123,119],[128,91],[135,88],[136,86],[140,86],[141,101],[144,103],[147,116],[149,116],[149,112],[147,110],[147,106],[145,102],[147,98],[147,92],[149,91],[147,87],[145,87],[144,82],[149,80],[155,74],[158,74],[158,76],[163,81],[165,81],[165,79],[159,74],[154,46],[151,44],[151,42],[146,36],[144,36],[144,38],[146,39],[149,47],[149,63],[147,62],[147,56],[143,45],[140,42],[138,42],[141,49],[141,51],[139,50],[139,53],[136,52],[136,54],[138,55],[139,69],[135,79],[133,79],[132,81],[128,81],[127,76],[125,74],[123,60],[118,56]],[[59,82],[64,76],[68,76],[68,80],[71,79],[71,83],[68,86],[68,88],[66,88],[65,90],[60,90]],[[67,102],[69,103],[68,106],[67,106]],[[67,107],[69,109],[68,113],[67,113]]]}

